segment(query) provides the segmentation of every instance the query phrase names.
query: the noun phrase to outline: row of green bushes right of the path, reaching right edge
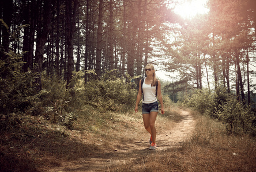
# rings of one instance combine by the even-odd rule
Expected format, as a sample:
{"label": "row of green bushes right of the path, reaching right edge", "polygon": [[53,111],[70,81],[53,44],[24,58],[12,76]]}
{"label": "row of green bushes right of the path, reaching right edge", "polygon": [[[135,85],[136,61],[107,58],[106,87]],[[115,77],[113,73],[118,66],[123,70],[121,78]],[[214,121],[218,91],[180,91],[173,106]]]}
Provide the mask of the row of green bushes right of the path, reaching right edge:
{"label": "row of green bushes right of the path, reaching right edge", "polygon": [[228,132],[256,134],[256,115],[247,105],[240,103],[236,96],[224,88],[210,92],[207,89],[197,89],[183,101],[188,107],[194,108],[202,115],[221,120]]}

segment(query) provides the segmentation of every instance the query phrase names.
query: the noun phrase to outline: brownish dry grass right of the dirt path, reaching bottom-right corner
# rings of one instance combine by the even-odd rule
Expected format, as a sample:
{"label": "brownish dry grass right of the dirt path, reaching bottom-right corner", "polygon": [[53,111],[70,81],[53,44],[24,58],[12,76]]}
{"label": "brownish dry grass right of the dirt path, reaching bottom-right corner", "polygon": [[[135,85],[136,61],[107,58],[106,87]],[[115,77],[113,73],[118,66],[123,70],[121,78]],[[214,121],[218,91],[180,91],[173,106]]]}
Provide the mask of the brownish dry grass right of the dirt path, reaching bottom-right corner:
{"label": "brownish dry grass right of the dirt path, reaching bottom-right corner", "polygon": [[255,138],[227,135],[216,120],[194,114],[190,139],[166,151],[116,166],[110,171],[255,171]]}

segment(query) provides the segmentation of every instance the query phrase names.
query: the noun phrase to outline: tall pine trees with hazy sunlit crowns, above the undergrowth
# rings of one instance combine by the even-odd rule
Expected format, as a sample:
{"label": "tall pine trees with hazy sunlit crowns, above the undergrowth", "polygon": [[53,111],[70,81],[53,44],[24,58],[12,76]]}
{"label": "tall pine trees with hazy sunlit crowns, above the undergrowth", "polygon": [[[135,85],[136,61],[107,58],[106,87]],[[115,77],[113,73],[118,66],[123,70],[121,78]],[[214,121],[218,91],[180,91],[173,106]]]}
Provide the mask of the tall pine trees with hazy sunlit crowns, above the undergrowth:
{"label": "tall pine trees with hazy sunlit crowns, above the undergrowth", "polygon": [[255,2],[209,1],[208,14],[187,20],[173,12],[175,3],[2,2],[1,60],[8,57],[5,53],[20,54],[22,72],[38,74],[37,91],[42,75],[63,79],[72,88],[75,71],[85,73],[85,83],[112,70],[116,77],[143,77],[143,67],[153,62],[177,73],[172,80],[177,91],[202,88],[203,79],[205,87],[212,89],[212,82],[215,89],[234,90],[251,104]]}

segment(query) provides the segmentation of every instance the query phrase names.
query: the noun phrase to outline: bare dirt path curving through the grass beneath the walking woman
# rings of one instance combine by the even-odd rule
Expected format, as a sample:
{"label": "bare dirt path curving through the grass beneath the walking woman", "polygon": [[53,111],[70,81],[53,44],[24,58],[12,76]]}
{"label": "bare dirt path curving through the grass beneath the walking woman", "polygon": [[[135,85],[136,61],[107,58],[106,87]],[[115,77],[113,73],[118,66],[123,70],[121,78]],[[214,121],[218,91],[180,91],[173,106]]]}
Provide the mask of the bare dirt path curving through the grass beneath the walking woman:
{"label": "bare dirt path curving through the grass beneath the walking woman", "polygon": [[[159,131],[157,132],[157,150],[163,151],[168,148],[179,144],[186,138],[188,138],[191,131],[193,131],[194,120],[193,117],[187,111],[180,111],[180,120],[176,122],[175,128],[171,131]],[[142,128],[143,129],[143,128]],[[141,155],[149,155],[156,153],[156,151],[150,151],[149,140],[136,140],[134,144],[123,144],[115,150],[106,150],[102,153],[102,157],[90,156],[86,159],[81,159],[80,162],[65,163],[62,167],[57,169],[51,169],[50,171],[106,171],[108,167],[121,165],[126,161],[137,158]]]}

